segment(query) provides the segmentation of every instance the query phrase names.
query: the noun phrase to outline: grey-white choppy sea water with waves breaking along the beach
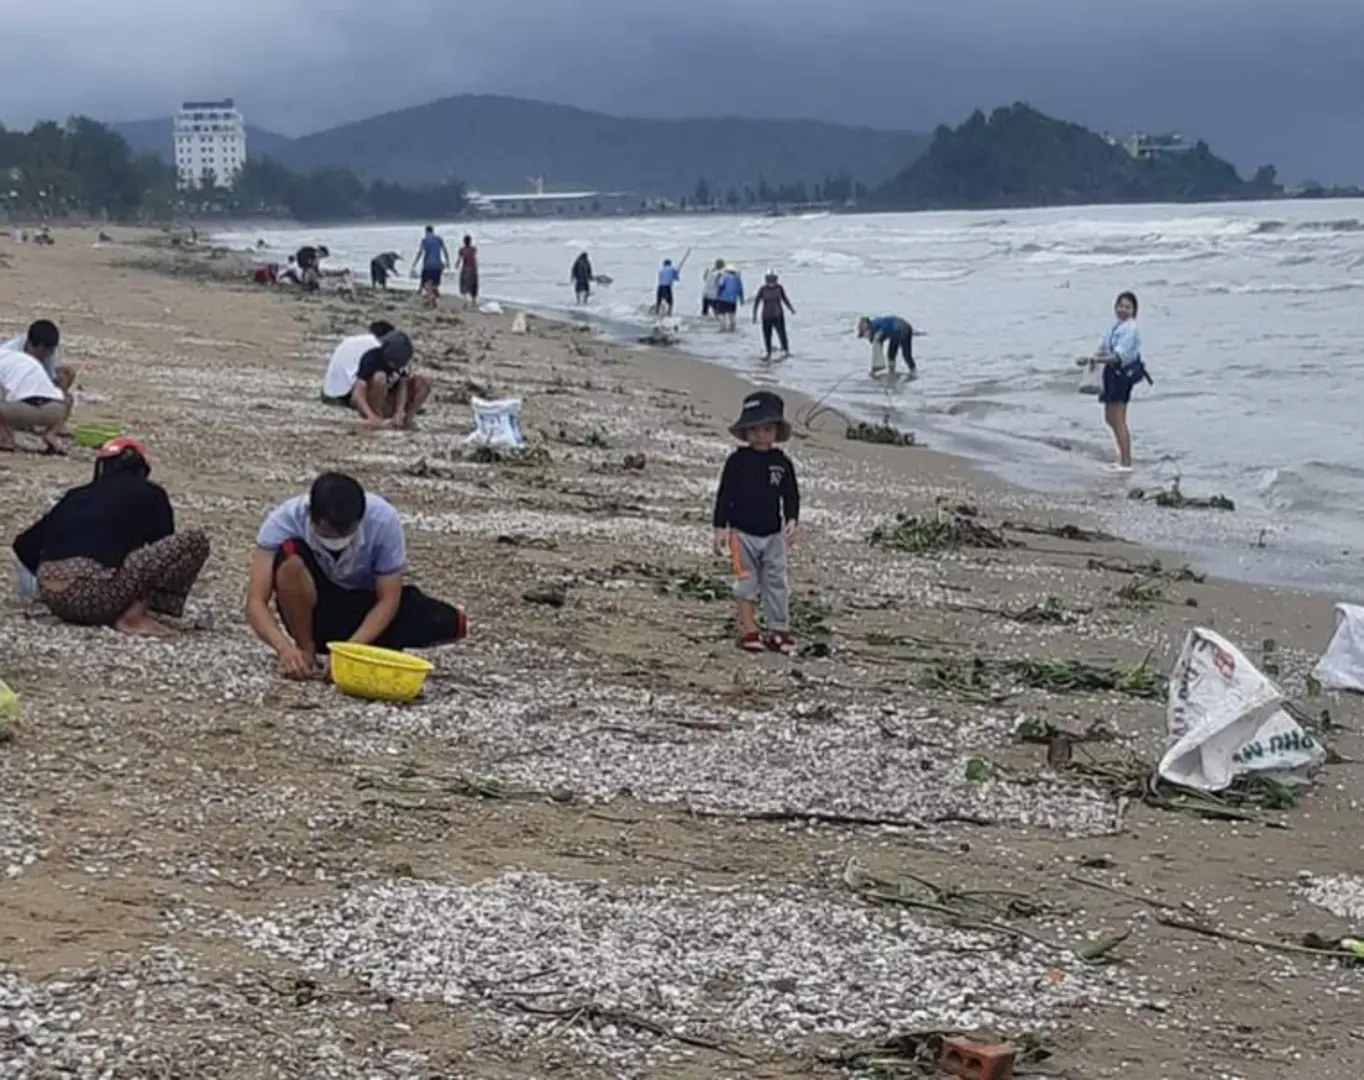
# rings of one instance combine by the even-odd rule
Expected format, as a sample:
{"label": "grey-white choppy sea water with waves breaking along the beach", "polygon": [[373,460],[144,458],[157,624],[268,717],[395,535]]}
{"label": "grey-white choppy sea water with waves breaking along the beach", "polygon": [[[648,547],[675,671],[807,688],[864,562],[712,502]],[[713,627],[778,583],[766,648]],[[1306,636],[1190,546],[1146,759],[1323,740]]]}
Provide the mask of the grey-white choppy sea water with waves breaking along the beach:
{"label": "grey-white choppy sea water with waves breaking along the beach", "polygon": [[[486,297],[626,338],[652,322],[660,262],[686,256],[677,289],[686,352],[888,417],[1222,573],[1364,592],[1364,202],[439,228],[451,251],[473,233]],[[263,239],[274,255],[325,243],[329,266],[363,278],[372,255],[411,258],[419,237],[420,224],[216,239],[243,248]],[[612,278],[585,308],[569,284],[580,251]],[[764,364],[746,318],[739,334],[700,318],[701,274],[716,258],[739,265],[750,296],[764,271],[780,274],[797,308],[790,360]],[[1155,385],[1138,387],[1129,409],[1136,472],[1113,477],[1102,468],[1113,454],[1102,409],[1078,393],[1075,359],[1095,349],[1123,289],[1140,299]],[[868,376],[870,349],[854,326],[883,314],[925,334],[913,382]],[[1174,479],[1189,495],[1232,496],[1237,511],[1174,515],[1124,498]]]}

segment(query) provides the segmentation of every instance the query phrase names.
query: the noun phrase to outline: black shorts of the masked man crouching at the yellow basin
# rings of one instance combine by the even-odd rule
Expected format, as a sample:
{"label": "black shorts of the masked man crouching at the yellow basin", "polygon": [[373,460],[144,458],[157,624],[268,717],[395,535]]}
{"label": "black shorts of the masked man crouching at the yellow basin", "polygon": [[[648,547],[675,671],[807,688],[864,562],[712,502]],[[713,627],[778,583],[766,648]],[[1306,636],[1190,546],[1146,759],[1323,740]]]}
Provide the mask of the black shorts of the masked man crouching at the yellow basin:
{"label": "black shorts of the masked man crouching at the yellow basin", "polygon": [[[312,608],[312,644],[327,652],[330,641],[349,641],[378,601],[372,589],[344,589],[318,567],[316,556],[303,540],[285,540],[274,554],[274,567],[297,555],[308,567],[318,593]],[[381,649],[421,649],[446,645],[465,635],[466,627],[453,604],[427,596],[416,585],[402,586],[398,614],[374,642]],[[288,627],[285,627],[288,629]]]}

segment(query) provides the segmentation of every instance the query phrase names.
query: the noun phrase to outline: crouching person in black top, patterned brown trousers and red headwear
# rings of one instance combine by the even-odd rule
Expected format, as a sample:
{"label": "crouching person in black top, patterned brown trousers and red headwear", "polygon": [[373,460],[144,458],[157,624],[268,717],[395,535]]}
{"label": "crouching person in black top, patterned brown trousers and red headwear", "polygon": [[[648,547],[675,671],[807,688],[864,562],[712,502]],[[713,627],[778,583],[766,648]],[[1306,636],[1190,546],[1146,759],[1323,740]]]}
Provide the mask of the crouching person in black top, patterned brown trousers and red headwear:
{"label": "crouching person in black top, patterned brown trousers and red headwear", "polygon": [[71,488],[14,541],[38,597],[63,622],[165,637],[151,612],[179,618],[209,559],[199,530],[177,533],[165,488],[136,439],[113,439],[94,461],[94,480]]}

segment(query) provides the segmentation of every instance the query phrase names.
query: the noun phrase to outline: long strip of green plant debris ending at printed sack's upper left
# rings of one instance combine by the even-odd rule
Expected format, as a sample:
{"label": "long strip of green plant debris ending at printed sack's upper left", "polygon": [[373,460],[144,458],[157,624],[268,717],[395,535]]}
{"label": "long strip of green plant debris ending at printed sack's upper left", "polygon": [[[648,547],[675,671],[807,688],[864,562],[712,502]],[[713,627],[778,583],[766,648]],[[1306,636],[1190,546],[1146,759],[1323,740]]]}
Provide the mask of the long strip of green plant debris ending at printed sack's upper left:
{"label": "long strip of green plant debris ending at printed sack's upper left", "polygon": [[918,685],[925,690],[990,700],[1023,687],[1052,694],[1118,693],[1155,700],[1163,698],[1166,691],[1166,679],[1151,667],[1150,657],[1128,668],[1064,659],[938,659],[923,664]]}

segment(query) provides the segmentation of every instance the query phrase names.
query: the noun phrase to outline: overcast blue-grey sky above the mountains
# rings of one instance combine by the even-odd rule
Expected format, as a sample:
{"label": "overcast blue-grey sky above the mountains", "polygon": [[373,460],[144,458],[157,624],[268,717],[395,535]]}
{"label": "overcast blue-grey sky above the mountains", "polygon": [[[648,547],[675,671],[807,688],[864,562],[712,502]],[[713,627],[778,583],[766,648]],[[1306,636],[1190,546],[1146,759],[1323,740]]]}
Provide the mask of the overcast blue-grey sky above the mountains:
{"label": "overcast blue-grey sky above the mountains", "polygon": [[[297,135],[460,93],[932,130],[1016,100],[1364,181],[1364,0],[0,0],[0,120],[232,95]],[[25,63],[15,63],[26,57]]]}

